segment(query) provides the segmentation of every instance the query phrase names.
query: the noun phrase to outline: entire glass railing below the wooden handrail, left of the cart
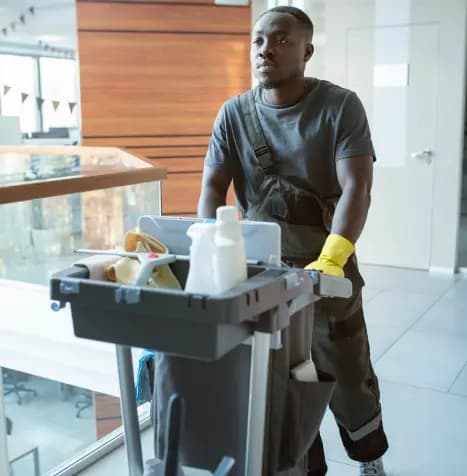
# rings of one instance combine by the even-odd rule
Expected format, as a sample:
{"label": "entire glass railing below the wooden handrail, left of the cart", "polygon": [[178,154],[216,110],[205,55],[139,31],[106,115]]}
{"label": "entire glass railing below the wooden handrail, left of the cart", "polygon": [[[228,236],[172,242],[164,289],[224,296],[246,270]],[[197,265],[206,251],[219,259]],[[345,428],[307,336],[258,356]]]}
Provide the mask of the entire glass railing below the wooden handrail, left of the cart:
{"label": "entire glass railing below the wooden handrail, left of the cart", "polygon": [[[24,181],[25,171],[13,170],[14,181],[8,181],[12,171],[0,165],[0,198],[9,201],[0,200],[0,447],[6,440],[8,449],[0,474],[2,469],[15,476],[76,474],[74,462],[85,466],[83,458],[91,453],[95,460],[99,442],[105,451],[122,442],[115,346],[76,338],[70,310],[52,311],[48,286],[54,272],[83,258],[75,249],[122,248],[125,233],[141,215],[160,213],[158,180],[133,175],[125,184],[117,171],[119,186],[100,188],[104,169],[92,171],[94,190],[78,192],[75,184],[75,193],[50,196],[39,184],[40,198],[15,202],[5,187]],[[87,174],[81,170],[83,183]],[[57,179],[56,174],[34,178]]]}

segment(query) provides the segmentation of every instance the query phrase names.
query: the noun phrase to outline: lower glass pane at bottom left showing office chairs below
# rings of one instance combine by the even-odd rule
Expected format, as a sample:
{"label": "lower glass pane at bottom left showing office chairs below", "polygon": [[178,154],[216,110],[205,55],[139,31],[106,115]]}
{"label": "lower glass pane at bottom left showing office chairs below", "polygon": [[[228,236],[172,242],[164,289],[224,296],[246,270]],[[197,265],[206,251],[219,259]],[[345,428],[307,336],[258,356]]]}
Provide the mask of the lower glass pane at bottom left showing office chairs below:
{"label": "lower glass pane at bottom left showing office chairs below", "polygon": [[43,474],[96,441],[95,402],[107,396],[6,368],[3,393],[11,474]]}

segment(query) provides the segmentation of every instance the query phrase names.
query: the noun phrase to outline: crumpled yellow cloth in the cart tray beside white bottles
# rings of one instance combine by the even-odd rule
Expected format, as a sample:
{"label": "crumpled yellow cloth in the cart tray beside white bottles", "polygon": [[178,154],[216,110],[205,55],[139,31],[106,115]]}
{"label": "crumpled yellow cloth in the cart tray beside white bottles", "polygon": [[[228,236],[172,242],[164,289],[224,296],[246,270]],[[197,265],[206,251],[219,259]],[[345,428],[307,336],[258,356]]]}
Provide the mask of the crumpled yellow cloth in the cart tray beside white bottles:
{"label": "crumpled yellow cloth in the cart tray beside white bottles", "polygon": [[[143,253],[168,253],[167,246],[157,238],[138,231],[129,231],[125,236],[125,251],[141,251]],[[135,258],[121,258],[107,268],[106,276],[109,281],[123,284],[134,284],[141,263]],[[157,267],[147,283],[156,288],[182,289],[169,265]]]}

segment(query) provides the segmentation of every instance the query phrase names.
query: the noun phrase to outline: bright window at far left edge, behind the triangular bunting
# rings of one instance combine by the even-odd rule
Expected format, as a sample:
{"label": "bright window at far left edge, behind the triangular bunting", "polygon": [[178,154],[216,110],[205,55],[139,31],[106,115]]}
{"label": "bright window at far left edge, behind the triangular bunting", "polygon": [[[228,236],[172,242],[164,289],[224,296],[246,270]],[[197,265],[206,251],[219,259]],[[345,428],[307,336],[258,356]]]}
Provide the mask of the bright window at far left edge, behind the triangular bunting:
{"label": "bright window at far left edge, behind the triangular bunting", "polygon": [[[37,62],[30,56],[0,55],[0,83],[10,86],[1,91],[1,113],[19,116],[22,132],[39,129],[36,96],[39,94]],[[27,94],[23,97],[22,93]]]}

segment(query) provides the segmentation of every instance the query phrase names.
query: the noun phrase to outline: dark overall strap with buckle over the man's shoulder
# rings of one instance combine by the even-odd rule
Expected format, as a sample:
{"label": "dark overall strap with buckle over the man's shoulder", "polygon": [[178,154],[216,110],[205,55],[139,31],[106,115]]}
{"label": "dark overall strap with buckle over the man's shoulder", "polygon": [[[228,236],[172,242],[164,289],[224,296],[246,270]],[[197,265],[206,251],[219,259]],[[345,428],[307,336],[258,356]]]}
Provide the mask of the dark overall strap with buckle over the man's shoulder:
{"label": "dark overall strap with buckle over the man's shoulder", "polygon": [[245,120],[246,133],[253,148],[256,162],[265,175],[273,175],[277,173],[276,164],[274,163],[274,159],[266,143],[263,129],[259,122],[254,90],[250,90],[237,96],[237,107]]}

